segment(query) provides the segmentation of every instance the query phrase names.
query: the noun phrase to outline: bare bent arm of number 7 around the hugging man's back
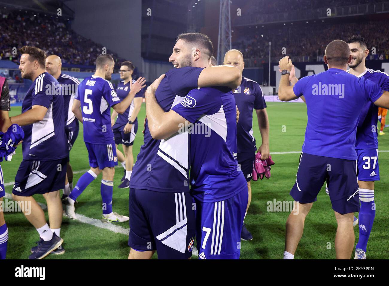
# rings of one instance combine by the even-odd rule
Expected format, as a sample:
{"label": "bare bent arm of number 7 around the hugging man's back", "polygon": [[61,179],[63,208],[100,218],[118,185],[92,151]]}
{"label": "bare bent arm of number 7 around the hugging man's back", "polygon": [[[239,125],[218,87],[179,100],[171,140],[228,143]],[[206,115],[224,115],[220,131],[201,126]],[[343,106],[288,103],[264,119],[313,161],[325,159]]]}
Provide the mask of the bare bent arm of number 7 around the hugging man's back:
{"label": "bare bent arm of number 7 around the hugging man's back", "polygon": [[165,75],[156,79],[145,92],[146,117],[153,139],[166,139],[177,133],[186,119],[172,110],[165,112],[155,98],[155,91]]}

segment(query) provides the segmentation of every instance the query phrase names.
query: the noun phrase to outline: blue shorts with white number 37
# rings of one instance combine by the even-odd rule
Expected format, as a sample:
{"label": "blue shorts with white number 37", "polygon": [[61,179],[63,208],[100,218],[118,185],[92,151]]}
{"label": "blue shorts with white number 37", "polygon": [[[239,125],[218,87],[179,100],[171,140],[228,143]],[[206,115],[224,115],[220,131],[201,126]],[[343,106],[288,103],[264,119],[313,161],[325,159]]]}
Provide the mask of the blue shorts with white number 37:
{"label": "blue shorts with white number 37", "polygon": [[359,181],[379,181],[378,149],[356,149]]}

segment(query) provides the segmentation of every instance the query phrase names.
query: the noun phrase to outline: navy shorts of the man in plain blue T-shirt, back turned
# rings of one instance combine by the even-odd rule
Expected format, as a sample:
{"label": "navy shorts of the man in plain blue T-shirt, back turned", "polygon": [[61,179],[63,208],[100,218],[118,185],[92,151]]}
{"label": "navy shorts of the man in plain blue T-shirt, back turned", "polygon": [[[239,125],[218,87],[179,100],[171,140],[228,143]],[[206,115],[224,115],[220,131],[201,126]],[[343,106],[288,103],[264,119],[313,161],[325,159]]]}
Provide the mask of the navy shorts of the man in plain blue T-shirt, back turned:
{"label": "navy shorts of the man in plain blue T-shirt, back turned", "polygon": [[324,182],[334,211],[340,214],[359,211],[357,162],[301,153],[290,195],[300,204],[316,202]]}

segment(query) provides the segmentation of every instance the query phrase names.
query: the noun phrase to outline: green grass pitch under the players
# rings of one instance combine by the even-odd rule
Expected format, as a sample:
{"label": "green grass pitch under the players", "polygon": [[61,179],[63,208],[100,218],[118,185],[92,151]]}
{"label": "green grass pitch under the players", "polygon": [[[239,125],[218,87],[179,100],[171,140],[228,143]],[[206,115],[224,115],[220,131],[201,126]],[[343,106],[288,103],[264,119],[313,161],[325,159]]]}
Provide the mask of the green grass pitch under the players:
{"label": "green grass pitch under the players", "polygon": [[[305,104],[268,103],[267,111],[270,121],[270,153],[301,150],[307,123]],[[20,114],[20,112],[21,107],[13,107],[10,116]],[[144,117],[145,106],[143,104],[138,117],[140,126],[133,147],[135,159],[143,143],[143,128],[141,125]],[[253,126],[254,136],[257,138],[257,146],[259,147],[261,139],[255,115]],[[389,134],[379,137],[379,150],[389,150]],[[18,149],[11,162],[2,162],[5,183],[14,181],[21,158],[21,150]],[[272,168],[272,177],[252,182],[252,201],[245,223],[254,239],[242,241],[242,259],[282,258],[285,223],[289,212],[268,212],[267,202],[273,202],[274,199],[277,201],[293,200],[289,196],[289,191],[296,178],[299,154],[273,154],[272,158],[275,161]],[[70,162],[74,171],[89,168],[88,153],[82,140],[82,129],[70,153]],[[389,189],[388,163],[389,153],[380,153],[381,181],[376,182],[375,186],[377,212],[368,243],[368,259],[389,258],[387,252],[387,246],[389,245],[387,224],[389,221],[389,211],[387,209],[389,198],[387,193]],[[82,173],[74,175],[74,185],[81,175]],[[113,209],[119,214],[128,215],[128,189],[117,188],[122,175],[123,169],[116,168]],[[101,218],[100,179],[101,175],[78,198],[77,214],[83,214],[89,218]],[[5,190],[7,193],[11,193],[12,185],[6,186]],[[35,198],[44,203],[42,196],[36,195]],[[38,234],[21,212],[5,212],[4,215],[9,228],[7,259],[26,259],[30,254],[30,248],[35,246],[35,241],[39,240]],[[128,223],[121,223],[120,225],[129,228]],[[334,212],[331,209],[329,197],[322,188],[317,202],[315,202],[305,221],[305,232],[295,258],[334,259],[335,231]],[[357,227],[355,228],[355,236],[357,242],[359,236]],[[66,253],[60,256],[49,255],[46,259],[126,259],[130,250],[127,246],[128,235],[97,228],[79,221],[72,221],[65,217],[61,228],[61,237],[64,239],[63,246]]]}

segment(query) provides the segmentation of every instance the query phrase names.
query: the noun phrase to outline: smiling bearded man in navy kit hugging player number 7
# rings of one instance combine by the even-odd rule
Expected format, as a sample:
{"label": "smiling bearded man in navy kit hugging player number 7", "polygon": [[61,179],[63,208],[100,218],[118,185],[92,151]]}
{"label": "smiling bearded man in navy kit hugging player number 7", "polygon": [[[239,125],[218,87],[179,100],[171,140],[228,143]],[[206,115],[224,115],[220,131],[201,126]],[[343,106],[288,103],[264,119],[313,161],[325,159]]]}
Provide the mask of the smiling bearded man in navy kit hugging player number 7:
{"label": "smiling bearded man in navy kit hugging player number 7", "polygon": [[[155,93],[164,111],[179,104],[193,88],[228,86],[233,89],[240,84],[237,68],[208,67],[213,46],[206,35],[187,33],[177,39],[169,58],[175,69],[166,73]],[[144,144],[130,181],[128,258],[150,259],[157,251],[159,259],[188,259],[196,227],[189,192],[188,134],[180,132],[156,140],[149,128],[154,126],[146,121]]]}

